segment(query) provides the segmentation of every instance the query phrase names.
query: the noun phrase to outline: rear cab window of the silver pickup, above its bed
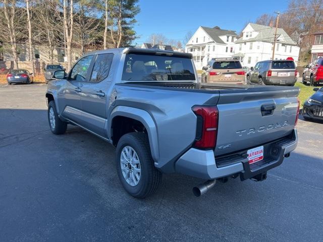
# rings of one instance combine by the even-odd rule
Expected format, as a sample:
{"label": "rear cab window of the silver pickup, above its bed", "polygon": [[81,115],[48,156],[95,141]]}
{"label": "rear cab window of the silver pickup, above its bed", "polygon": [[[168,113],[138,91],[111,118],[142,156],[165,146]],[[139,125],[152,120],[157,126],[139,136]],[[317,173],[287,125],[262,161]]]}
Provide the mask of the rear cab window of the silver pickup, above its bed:
{"label": "rear cab window of the silver pickup, above its bed", "polygon": [[192,60],[185,56],[126,54],[124,81],[195,81]]}

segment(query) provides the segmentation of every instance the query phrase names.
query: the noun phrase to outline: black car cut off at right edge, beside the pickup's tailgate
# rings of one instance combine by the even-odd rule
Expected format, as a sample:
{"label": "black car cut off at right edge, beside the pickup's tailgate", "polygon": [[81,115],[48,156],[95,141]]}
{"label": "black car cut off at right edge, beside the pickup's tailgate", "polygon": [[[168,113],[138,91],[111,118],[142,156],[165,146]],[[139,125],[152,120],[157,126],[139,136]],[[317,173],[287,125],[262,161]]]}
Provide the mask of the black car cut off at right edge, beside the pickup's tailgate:
{"label": "black car cut off at right edge, beside the pickup's tailgate", "polygon": [[302,114],[304,119],[323,120],[323,87],[313,90],[315,93],[304,102]]}

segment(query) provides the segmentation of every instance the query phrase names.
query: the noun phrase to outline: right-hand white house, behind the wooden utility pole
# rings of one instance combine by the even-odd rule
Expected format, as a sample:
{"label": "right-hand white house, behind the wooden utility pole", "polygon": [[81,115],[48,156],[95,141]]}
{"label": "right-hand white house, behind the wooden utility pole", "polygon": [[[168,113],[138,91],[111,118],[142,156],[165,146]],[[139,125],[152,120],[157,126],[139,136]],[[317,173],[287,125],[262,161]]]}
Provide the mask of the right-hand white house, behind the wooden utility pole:
{"label": "right-hand white house, behind the wooden utility pole", "polygon": [[[254,67],[259,61],[272,59],[275,27],[249,23],[242,31],[242,37],[235,42],[235,54],[240,57],[242,66]],[[299,47],[285,32],[277,29],[277,42],[274,59],[293,57],[298,61]]]}

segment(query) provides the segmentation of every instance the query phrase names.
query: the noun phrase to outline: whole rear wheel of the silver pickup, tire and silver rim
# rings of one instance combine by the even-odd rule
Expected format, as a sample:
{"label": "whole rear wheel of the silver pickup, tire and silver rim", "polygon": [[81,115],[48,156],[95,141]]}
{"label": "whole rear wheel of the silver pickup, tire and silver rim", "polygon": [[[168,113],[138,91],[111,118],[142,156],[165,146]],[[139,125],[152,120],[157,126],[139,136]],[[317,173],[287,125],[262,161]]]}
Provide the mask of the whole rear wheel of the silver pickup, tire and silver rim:
{"label": "whole rear wheel of the silver pickup, tire and silver rim", "polygon": [[122,136],[116,149],[116,168],[123,188],[135,198],[153,194],[161,183],[145,133]]}

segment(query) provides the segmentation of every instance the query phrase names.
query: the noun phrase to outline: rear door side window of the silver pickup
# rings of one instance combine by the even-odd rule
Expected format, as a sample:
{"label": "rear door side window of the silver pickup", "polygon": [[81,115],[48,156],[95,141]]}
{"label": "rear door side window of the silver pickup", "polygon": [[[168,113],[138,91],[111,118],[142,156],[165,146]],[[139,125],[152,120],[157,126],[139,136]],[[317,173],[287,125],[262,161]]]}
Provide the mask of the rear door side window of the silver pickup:
{"label": "rear door side window of the silver pickup", "polygon": [[93,67],[90,82],[100,82],[109,75],[113,54],[98,54]]}

